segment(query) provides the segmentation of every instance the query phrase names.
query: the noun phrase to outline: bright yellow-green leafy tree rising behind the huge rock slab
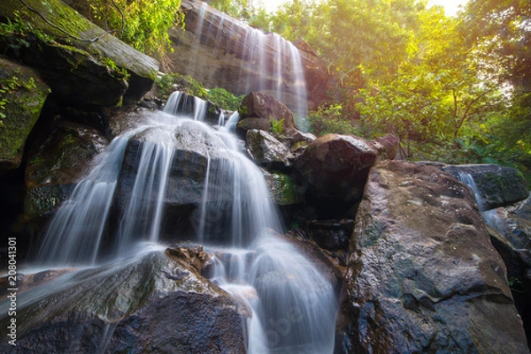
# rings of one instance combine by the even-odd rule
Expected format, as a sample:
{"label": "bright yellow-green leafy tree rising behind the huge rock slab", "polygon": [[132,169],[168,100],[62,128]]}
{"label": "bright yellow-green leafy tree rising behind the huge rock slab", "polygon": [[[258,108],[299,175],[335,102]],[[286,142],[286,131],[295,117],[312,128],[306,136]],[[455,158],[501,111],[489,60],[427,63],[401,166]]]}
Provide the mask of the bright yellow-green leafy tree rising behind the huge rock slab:
{"label": "bright yellow-green leafy tree rising behind the huge rock slab", "polygon": [[[373,132],[393,132],[411,154],[411,140],[453,144],[465,124],[503,105],[496,85],[478,77],[477,61],[441,8],[419,13],[419,32],[396,76],[371,81],[357,105]],[[373,87],[378,87],[374,90]],[[377,94],[375,94],[377,92]]]}

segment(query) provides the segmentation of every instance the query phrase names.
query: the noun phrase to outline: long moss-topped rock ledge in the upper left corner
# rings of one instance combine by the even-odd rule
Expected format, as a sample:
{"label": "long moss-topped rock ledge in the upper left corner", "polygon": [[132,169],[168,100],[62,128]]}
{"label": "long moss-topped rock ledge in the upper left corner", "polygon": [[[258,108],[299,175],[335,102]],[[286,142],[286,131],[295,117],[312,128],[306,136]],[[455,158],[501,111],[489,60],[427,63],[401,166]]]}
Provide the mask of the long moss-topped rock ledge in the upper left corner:
{"label": "long moss-topped rock ledge in the upper left corner", "polygon": [[[77,11],[60,0],[47,0],[46,2],[27,0],[27,4],[42,14],[47,21],[44,21],[35,11],[29,11],[27,6],[18,0],[4,0],[0,7],[0,18],[13,21],[16,19],[15,14],[19,13],[37,34],[34,33],[37,41],[35,45],[30,46],[29,52],[25,46],[13,49],[13,41],[16,42],[20,39],[6,40],[4,38],[4,43],[0,47],[10,49],[7,51],[10,56],[19,57],[25,61],[33,58],[31,65],[39,68],[42,73],[50,74],[50,79],[54,79],[54,74],[59,77],[58,79],[61,79],[60,76],[66,76],[70,80],[80,77],[79,87],[85,89],[90,87],[92,77],[90,70],[85,70],[85,67],[88,69],[96,67],[95,82],[99,86],[99,99],[102,102],[89,100],[86,102],[89,104],[116,105],[121,102],[124,93],[127,100],[134,101],[140,99],[143,94],[150,90],[154,79],[157,77],[159,67],[155,59],[133,49],[112,34],[105,34],[102,28],[82,17]],[[42,35],[38,34],[50,36],[53,45],[42,40]],[[26,34],[24,35],[26,36]],[[23,39],[28,40],[28,38]],[[29,42],[34,44],[32,41]],[[73,56],[72,61],[71,58],[66,58],[66,62],[71,64],[68,71],[57,71],[55,60],[50,57],[50,52],[53,53],[54,51],[58,52],[60,56],[65,56],[65,52]],[[84,56],[83,60],[78,60],[80,59],[79,56]],[[112,83],[114,95],[109,93],[107,85],[102,86],[99,82],[102,75]],[[127,82],[124,84],[122,81],[125,79]],[[50,84],[50,86],[54,88],[53,85]],[[121,92],[114,89],[117,86],[121,87]],[[75,87],[75,85],[70,87]],[[96,93],[96,90],[91,92]],[[82,90],[80,93],[82,94]],[[115,94],[119,94],[119,97],[115,97]],[[72,96],[71,94],[65,99],[71,99]],[[107,96],[106,100],[105,96]]]}

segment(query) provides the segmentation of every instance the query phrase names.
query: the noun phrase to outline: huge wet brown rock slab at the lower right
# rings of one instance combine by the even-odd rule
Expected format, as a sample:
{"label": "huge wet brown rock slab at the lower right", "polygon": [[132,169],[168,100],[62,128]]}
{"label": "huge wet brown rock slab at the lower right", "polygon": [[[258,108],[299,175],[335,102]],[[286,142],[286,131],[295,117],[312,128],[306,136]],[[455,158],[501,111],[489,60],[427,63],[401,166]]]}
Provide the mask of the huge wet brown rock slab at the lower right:
{"label": "huge wet brown rock slab at the lower right", "polygon": [[466,185],[411,162],[371,170],[335,352],[529,352],[503,261]]}

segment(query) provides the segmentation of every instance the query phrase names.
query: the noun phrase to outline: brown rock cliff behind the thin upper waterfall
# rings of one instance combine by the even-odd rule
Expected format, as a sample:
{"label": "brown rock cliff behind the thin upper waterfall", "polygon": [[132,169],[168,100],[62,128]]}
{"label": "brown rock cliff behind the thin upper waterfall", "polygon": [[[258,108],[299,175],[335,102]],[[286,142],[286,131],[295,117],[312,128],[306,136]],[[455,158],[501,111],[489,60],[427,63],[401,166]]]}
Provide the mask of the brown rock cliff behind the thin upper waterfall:
{"label": "brown rock cliff behind the thin upper waterfall", "polygon": [[[332,87],[333,79],[323,61],[313,50],[307,49],[307,43],[304,49],[297,50],[295,46],[279,41],[277,34],[263,34],[202,4],[182,0],[185,29],[175,27],[170,30],[173,52],[168,57],[175,68],[182,68],[181,73],[201,81],[205,87],[223,87],[233,94],[261,91],[273,95],[273,91],[278,90],[281,102],[294,112],[303,94],[310,109],[317,109],[329,101],[327,91]],[[257,47],[259,42],[264,44],[261,49]],[[278,52],[275,48],[279,45],[291,50]],[[300,56],[304,67],[301,74],[306,82],[305,93],[300,92],[300,83],[291,79],[294,74],[292,65],[282,67],[281,82],[273,79],[273,72],[279,71],[279,60],[291,63],[292,50]],[[263,56],[262,70],[258,69],[259,55]]]}

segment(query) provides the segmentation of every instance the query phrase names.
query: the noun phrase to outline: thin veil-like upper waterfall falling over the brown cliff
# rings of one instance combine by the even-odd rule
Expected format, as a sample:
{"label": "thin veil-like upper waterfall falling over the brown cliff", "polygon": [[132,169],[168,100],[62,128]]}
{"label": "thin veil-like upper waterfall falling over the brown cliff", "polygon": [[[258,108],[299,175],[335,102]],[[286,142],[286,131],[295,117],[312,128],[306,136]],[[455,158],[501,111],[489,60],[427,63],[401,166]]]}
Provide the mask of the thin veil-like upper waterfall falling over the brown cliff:
{"label": "thin veil-like upper waterfall falling over the brown cliff", "polygon": [[[272,95],[288,106],[296,116],[299,129],[305,130],[308,114],[305,69],[296,46],[279,34],[266,34],[222,12],[206,11],[205,3],[196,9],[196,14],[187,72],[212,79],[219,87],[235,87],[238,94],[255,91]],[[206,19],[207,15],[212,19]],[[215,45],[211,46],[209,39]],[[205,64],[206,59],[198,56],[200,45],[211,46],[211,52],[205,55],[217,57],[221,53],[242,60],[238,72],[219,72]]]}

